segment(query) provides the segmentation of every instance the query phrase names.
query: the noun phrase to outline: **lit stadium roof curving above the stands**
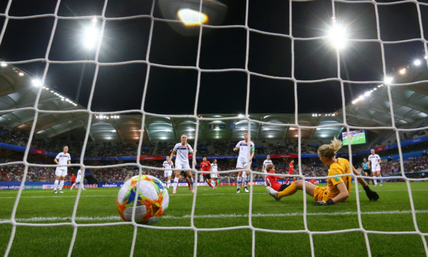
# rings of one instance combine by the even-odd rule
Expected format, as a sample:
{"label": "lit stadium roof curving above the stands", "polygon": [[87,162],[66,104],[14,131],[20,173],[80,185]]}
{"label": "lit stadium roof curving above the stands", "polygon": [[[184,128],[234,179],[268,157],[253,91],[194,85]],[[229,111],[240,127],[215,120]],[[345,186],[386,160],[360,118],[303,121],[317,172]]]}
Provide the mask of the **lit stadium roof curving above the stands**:
{"label": "lit stadium roof curving above the stands", "polygon": [[[34,78],[25,71],[13,66],[0,67],[0,125],[30,131],[35,119],[35,97],[39,86]],[[21,75],[19,73],[22,73]],[[405,79],[405,80],[404,80]],[[393,83],[428,80],[427,73],[409,68],[406,76],[396,75]],[[39,110],[69,111],[86,109],[67,99],[49,86],[42,86]],[[376,88],[376,89],[374,89]],[[428,116],[427,83],[407,86],[392,86],[393,112],[396,126],[416,128],[426,122]],[[13,110],[21,108],[19,110]],[[22,109],[23,108],[23,109]],[[351,126],[391,126],[389,98],[386,86],[373,85],[373,90],[362,95],[358,102],[346,106],[347,124]],[[248,120],[244,115],[222,114],[201,115],[209,120],[200,121],[200,140],[232,140],[242,138],[248,130]],[[221,120],[227,118],[227,120]],[[218,120],[217,120],[218,119]],[[298,137],[298,128],[284,126],[294,124],[294,113],[251,114],[251,137],[256,140],[291,140]],[[340,135],[343,127],[342,109],[335,113],[299,113],[300,126],[327,126],[322,128],[302,128],[302,139],[330,140]],[[37,117],[35,132],[43,137],[57,137],[68,131],[84,135],[88,124],[88,114],[44,113]],[[90,126],[90,137],[99,141],[134,141],[141,133],[142,114],[94,115]],[[331,125],[331,126],[330,126]],[[83,128],[83,129],[82,129]],[[77,132],[78,131],[78,132]],[[188,117],[167,117],[146,115],[144,137],[150,141],[177,141],[182,134],[189,139],[195,137],[196,120]],[[381,130],[377,131],[382,133]],[[82,135],[83,134],[83,135]]]}

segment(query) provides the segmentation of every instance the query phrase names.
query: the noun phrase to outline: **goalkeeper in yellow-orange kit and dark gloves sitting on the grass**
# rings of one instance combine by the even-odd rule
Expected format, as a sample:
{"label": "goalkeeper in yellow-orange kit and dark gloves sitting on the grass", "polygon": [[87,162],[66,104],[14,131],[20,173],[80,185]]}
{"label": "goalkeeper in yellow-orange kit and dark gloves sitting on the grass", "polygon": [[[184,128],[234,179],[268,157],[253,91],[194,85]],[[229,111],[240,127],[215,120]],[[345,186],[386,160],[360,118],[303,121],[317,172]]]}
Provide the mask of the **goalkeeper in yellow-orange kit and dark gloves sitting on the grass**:
{"label": "goalkeeper in yellow-orange kit and dark gloves sitting on the grass", "polygon": [[[334,138],[331,144],[324,144],[318,149],[318,157],[321,162],[329,166],[329,176],[351,174],[349,160],[335,157],[335,153],[340,148],[342,148],[342,141]],[[352,171],[355,175],[360,175],[353,167]],[[376,201],[379,199],[378,193],[371,191],[364,179],[358,178],[358,182],[360,182],[362,188],[366,191],[369,200]],[[266,187],[266,189],[273,198],[280,200],[284,196],[291,196],[299,189],[303,190],[303,183],[306,183],[306,192],[315,200],[314,205],[331,205],[336,202],[344,202],[349,198],[349,192],[351,191],[351,175],[327,178],[327,187],[317,187],[309,182],[304,182],[304,180],[298,180],[279,192],[271,187]]]}

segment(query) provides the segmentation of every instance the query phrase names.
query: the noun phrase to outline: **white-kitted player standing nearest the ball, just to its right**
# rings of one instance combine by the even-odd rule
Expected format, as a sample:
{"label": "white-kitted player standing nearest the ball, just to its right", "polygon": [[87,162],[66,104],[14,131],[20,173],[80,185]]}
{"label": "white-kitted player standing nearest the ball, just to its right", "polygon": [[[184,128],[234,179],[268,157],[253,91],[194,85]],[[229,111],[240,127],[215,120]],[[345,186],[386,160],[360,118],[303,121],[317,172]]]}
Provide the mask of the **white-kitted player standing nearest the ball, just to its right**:
{"label": "white-kitted player standing nearest the ball, just to its right", "polygon": [[[177,153],[177,156],[175,158],[175,168],[184,169],[184,170],[191,169],[191,166],[188,163],[188,153],[192,154],[193,162],[196,162],[195,152],[193,151],[192,146],[187,143],[187,135],[182,135],[181,140],[182,142],[175,144],[174,149],[171,152],[171,156],[169,158],[172,160],[174,154]],[[182,175],[180,175],[180,173],[181,171],[175,171],[173,193],[177,192],[178,180],[182,178]],[[192,172],[186,171],[186,175],[187,175],[187,178],[190,180],[192,193],[195,193],[195,190],[193,189]]]}

